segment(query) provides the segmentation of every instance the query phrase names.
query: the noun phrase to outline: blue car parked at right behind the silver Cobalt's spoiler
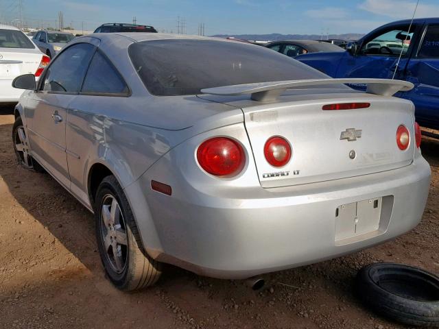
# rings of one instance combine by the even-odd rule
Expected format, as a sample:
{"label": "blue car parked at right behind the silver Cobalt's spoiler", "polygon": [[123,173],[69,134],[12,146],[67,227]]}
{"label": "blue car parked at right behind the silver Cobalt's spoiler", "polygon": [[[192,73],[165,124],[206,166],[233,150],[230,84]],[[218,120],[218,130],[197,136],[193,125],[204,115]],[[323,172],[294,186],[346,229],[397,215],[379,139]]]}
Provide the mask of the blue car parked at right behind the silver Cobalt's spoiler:
{"label": "blue car parked at right behind the silver Cobalt's spoiler", "polygon": [[414,102],[420,125],[439,130],[439,18],[415,19],[411,27],[410,23],[383,25],[351,42],[344,52],[309,53],[295,59],[331,77],[394,77],[412,82],[414,89],[396,96]]}

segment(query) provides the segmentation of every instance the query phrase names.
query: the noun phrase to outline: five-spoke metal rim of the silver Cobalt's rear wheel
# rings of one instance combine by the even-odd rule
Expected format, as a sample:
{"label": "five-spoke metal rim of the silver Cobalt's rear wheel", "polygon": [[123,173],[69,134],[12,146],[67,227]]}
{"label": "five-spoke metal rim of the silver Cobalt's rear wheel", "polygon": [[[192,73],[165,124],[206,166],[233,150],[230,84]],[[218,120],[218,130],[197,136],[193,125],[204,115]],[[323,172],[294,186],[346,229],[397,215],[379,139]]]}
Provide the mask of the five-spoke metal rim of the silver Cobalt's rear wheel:
{"label": "five-spoke metal rim of the silver Cobalt's rear wheel", "polygon": [[102,201],[101,235],[108,264],[116,273],[122,273],[128,258],[128,236],[119,203],[110,194]]}

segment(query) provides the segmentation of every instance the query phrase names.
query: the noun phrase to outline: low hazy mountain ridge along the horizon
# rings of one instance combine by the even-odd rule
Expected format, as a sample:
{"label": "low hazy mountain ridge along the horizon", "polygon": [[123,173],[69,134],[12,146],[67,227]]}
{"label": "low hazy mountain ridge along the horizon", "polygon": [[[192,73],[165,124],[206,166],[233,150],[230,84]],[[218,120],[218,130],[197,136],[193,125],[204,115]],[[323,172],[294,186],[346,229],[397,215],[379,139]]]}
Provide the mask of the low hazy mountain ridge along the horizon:
{"label": "low hazy mountain ridge along the horizon", "polygon": [[[321,36],[320,34],[217,34],[218,38],[228,38],[230,36],[244,39],[244,40],[259,40],[259,41],[275,41],[275,40],[320,40],[326,39],[327,36]],[[346,33],[346,34],[329,34],[329,39],[342,39],[342,40],[358,40],[364,36],[364,34],[358,33]]]}

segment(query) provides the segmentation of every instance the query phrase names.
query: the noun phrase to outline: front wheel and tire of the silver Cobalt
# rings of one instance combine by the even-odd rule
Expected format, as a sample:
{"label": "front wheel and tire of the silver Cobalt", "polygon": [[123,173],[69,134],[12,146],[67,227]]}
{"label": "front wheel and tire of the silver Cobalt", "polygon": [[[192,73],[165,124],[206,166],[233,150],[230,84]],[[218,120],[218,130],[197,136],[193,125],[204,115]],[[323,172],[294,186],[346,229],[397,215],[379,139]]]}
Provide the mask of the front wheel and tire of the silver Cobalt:
{"label": "front wheel and tire of the silver Cobalt", "polygon": [[12,126],[12,144],[21,166],[38,173],[45,173],[45,169],[29,155],[29,141],[21,117],[17,117]]}

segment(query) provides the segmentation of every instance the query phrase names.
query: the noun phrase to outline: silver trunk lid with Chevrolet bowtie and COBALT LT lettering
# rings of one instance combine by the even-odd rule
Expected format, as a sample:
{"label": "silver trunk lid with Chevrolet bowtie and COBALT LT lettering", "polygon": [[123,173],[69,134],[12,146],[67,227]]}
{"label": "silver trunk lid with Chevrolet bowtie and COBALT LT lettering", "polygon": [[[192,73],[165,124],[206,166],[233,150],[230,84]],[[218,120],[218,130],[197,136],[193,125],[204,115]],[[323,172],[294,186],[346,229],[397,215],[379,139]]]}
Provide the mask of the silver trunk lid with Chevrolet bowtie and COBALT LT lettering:
{"label": "silver trunk lid with Chevrolet bowtie and COBALT LT lettering", "polygon": [[[294,95],[296,93],[296,95]],[[407,166],[414,157],[414,106],[410,101],[364,93],[319,93],[294,90],[276,102],[260,103],[248,97],[225,103],[244,112],[244,120],[261,186],[270,188],[323,182],[367,175]],[[224,97],[203,95],[220,101]],[[369,108],[322,110],[333,103],[370,103]],[[401,151],[396,130],[405,125],[410,146]],[[361,130],[361,132],[359,132]],[[361,137],[341,139],[357,132]],[[292,158],[281,168],[272,167],[263,152],[272,136],[282,136],[292,146]],[[351,141],[350,141],[351,140]],[[355,158],[351,158],[351,152]]]}

